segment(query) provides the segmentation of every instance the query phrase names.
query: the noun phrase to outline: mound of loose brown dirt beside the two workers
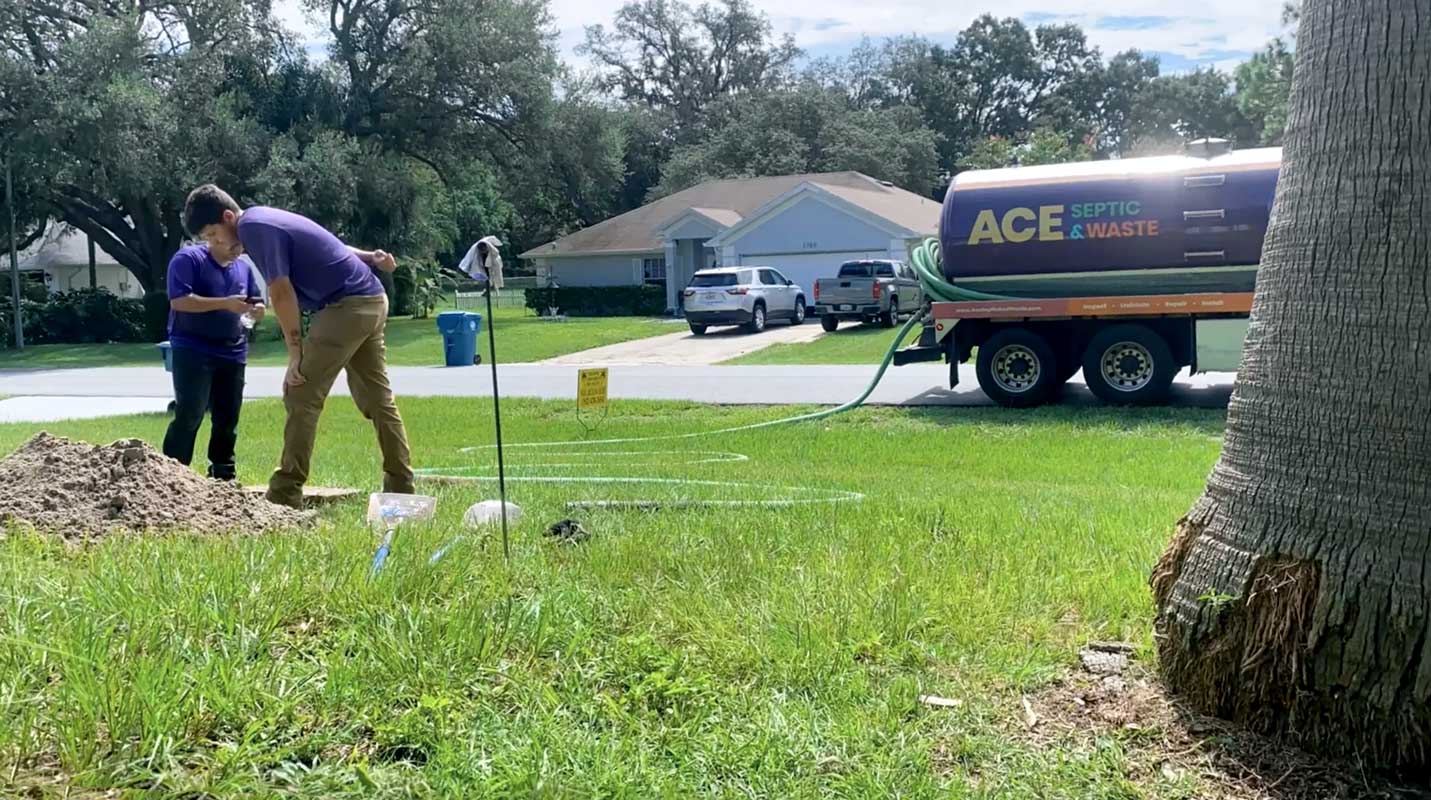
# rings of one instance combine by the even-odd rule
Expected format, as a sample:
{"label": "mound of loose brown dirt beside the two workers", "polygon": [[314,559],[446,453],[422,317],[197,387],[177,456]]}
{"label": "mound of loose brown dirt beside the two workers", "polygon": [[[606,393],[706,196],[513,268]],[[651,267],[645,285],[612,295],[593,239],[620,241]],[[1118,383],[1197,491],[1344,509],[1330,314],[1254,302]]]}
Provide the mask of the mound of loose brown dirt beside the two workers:
{"label": "mound of loose brown dirt beside the two workers", "polygon": [[262,532],[311,514],[210,481],[140,439],[110,445],[36,434],[0,461],[0,522],[67,540],[112,532]]}

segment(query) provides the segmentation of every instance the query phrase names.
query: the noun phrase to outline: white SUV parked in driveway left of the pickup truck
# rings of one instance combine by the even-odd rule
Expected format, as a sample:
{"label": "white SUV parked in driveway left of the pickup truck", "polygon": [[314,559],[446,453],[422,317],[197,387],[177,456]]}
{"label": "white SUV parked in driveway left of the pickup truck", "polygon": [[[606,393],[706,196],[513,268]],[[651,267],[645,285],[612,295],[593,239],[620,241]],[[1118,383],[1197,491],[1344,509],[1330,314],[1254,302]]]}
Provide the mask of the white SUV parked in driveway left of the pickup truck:
{"label": "white SUV parked in driveway left of the pickup truck", "polygon": [[800,325],[806,318],[804,289],[768,266],[703,269],[683,293],[691,333],[711,325],[744,325],[760,333],[770,319]]}

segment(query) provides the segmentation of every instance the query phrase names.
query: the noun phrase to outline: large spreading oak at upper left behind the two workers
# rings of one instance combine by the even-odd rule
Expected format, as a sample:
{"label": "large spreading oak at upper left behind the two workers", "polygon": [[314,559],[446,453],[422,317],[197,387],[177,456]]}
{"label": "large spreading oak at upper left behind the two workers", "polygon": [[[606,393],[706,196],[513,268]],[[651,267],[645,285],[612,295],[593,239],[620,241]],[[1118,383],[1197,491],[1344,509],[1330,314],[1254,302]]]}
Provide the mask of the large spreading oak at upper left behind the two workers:
{"label": "large spreading oak at upper left behind the two workers", "polygon": [[545,0],[306,4],[326,63],[296,52],[269,0],[0,4],[21,225],[84,230],[150,292],[207,180],[405,255],[505,228],[482,162],[512,162],[551,117]]}

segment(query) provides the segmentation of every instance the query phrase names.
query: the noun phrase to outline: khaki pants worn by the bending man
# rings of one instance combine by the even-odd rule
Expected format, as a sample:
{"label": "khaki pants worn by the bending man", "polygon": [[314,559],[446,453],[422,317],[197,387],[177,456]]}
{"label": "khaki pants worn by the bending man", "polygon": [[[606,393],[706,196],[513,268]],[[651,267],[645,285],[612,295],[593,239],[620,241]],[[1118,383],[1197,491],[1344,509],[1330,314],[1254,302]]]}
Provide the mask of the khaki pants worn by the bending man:
{"label": "khaki pants worn by the bending man", "polygon": [[283,405],[288,408],[283,457],[269,478],[269,501],[302,507],[318,418],[338,372],[343,369],[348,372],[348,391],[353,404],[378,431],[382,489],[412,494],[408,434],[388,384],[388,348],[384,343],[386,323],[385,295],[343,298],[313,315],[303,341],[303,359],[299,362],[305,382],[283,386]]}

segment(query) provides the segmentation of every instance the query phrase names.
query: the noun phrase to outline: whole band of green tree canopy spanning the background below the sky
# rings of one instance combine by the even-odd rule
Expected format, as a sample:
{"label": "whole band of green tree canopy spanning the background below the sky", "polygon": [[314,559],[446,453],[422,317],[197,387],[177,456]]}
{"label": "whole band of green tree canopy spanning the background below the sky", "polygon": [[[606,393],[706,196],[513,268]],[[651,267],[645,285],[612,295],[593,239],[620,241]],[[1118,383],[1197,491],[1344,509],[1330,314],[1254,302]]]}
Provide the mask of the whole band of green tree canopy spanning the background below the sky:
{"label": "whole band of green tree canopy spanning the background below the sky", "polygon": [[[807,60],[748,0],[637,0],[577,73],[547,0],[306,0],[311,57],[269,0],[0,7],[0,146],[21,239],[67,222],[162,285],[202,182],[355,243],[448,259],[525,249],[713,177],[860,170],[939,196],[979,166],[1281,140],[1291,46],[1163,74],[1072,24],[983,16],[952,43]],[[1295,14],[1295,9],[1289,13]]]}

